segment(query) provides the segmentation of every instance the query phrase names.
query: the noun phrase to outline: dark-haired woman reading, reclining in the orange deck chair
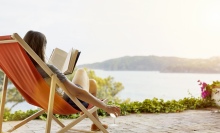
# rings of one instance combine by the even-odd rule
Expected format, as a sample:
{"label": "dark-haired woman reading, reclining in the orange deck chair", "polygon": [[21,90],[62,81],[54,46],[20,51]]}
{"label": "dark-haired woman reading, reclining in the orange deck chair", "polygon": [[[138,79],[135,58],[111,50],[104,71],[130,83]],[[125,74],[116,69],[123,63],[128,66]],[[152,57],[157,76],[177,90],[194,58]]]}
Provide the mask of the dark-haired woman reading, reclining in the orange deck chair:
{"label": "dark-haired woman reading, reclining in the orange deck chair", "polygon": [[[45,49],[47,40],[44,34],[37,32],[37,31],[28,31],[24,36],[24,41],[35,51],[35,53],[45,62]],[[36,66],[39,73],[42,77],[46,80],[49,76],[44,72],[44,70],[31,58],[33,64]],[[88,107],[88,103],[97,106],[107,113],[113,113],[115,116],[120,114],[120,108],[117,106],[107,105],[101,102],[99,99],[96,98],[97,93],[97,85],[96,81],[93,79],[89,79],[86,71],[84,69],[78,69],[76,74],[71,81],[66,78],[66,76],[61,73],[55,66],[47,64],[48,67],[57,74],[57,77],[60,81],[64,84],[66,89],[72,94],[74,97],[77,97],[80,102],[85,106]],[[63,92],[58,90],[59,94],[63,96],[63,98],[75,109],[80,109],[76,106],[74,102]],[[93,116],[99,120],[97,112],[93,113]],[[103,124],[105,128],[108,128],[106,124]],[[97,131],[99,128],[93,123],[91,125],[92,131]]]}

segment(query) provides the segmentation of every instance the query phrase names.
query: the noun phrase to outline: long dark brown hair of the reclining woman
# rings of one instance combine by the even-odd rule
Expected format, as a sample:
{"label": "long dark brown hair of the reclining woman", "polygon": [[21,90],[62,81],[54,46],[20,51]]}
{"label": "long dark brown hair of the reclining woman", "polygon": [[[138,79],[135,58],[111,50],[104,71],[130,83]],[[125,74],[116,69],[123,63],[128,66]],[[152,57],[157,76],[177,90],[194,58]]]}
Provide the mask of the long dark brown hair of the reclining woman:
{"label": "long dark brown hair of the reclining woman", "polygon": [[[44,34],[30,30],[24,36],[24,41],[33,49],[33,51],[45,62],[45,47],[47,39]],[[34,65],[37,65],[36,61],[31,58]]]}

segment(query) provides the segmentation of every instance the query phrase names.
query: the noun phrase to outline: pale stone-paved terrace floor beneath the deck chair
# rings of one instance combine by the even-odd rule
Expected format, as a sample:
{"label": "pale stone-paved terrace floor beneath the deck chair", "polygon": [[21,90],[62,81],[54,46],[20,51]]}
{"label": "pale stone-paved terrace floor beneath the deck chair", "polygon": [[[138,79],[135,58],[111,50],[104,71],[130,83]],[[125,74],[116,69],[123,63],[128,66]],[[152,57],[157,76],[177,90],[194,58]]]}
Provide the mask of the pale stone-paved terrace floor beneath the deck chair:
{"label": "pale stone-paved terrace floor beneath the deck chair", "polygon": [[[220,113],[213,113],[211,110],[188,110],[181,113],[146,113],[130,114],[116,118],[118,126],[111,127],[114,120],[111,117],[101,117],[103,123],[109,125],[109,133],[219,133]],[[65,125],[72,120],[61,120]],[[3,122],[3,131],[12,128],[19,121]],[[90,130],[92,122],[86,118],[74,129]],[[32,120],[25,126],[20,127],[13,133],[43,133],[45,132],[46,121]],[[61,127],[52,122],[51,133],[60,130]],[[68,130],[67,133],[77,133],[75,130]]]}

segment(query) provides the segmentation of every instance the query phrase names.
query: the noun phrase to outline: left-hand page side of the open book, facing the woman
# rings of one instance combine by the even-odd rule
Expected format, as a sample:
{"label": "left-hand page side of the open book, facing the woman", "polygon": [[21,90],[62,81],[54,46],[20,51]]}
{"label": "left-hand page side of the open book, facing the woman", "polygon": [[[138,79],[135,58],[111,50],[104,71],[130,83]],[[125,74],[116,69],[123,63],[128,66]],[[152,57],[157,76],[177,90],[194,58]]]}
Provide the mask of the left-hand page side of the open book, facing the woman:
{"label": "left-hand page side of the open book, facing the woman", "polygon": [[66,60],[67,53],[59,48],[55,48],[48,60],[48,64],[56,66],[61,72]]}

